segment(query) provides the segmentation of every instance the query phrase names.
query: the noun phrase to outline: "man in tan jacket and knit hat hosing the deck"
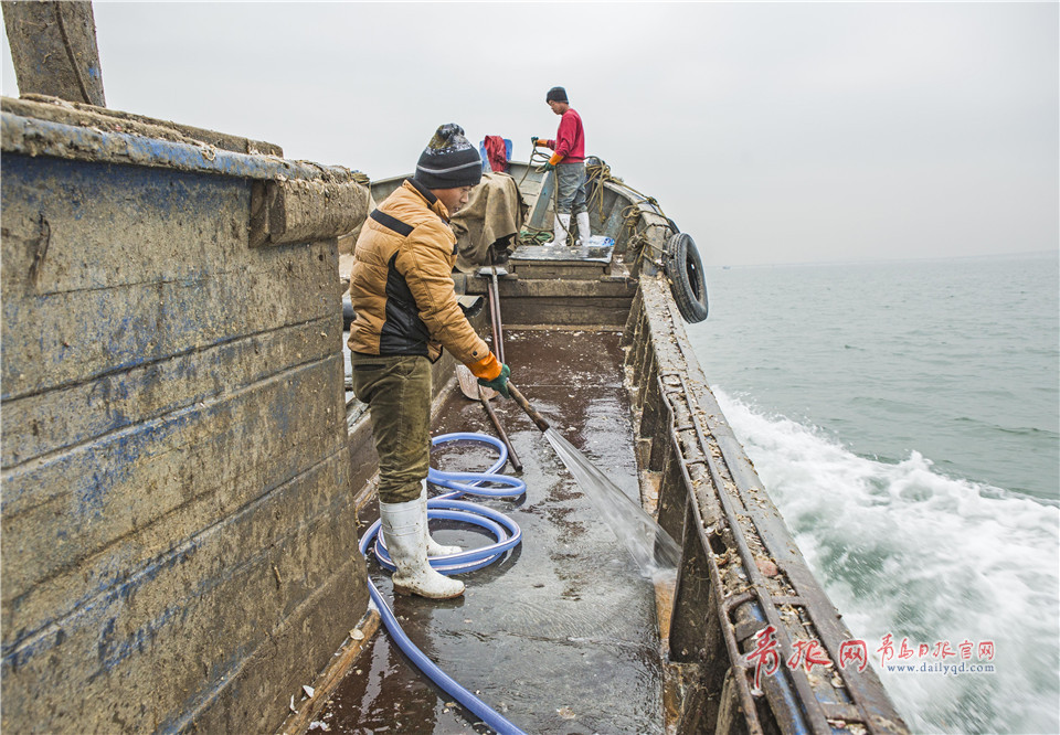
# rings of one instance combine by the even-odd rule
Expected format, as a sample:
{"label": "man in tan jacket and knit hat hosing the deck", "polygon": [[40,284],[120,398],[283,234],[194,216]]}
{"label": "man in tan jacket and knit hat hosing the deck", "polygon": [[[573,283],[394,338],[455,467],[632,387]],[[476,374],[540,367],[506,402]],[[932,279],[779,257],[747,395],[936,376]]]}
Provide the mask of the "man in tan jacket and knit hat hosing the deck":
{"label": "man in tan jacket and knit hat hosing the deck", "polygon": [[423,597],[464,594],[428,556],[458,553],[427,532],[431,363],[442,349],[479,383],[508,396],[507,365],[475,333],[456,300],[456,235],[449,217],[481,179],[478,151],[454,124],[437,129],[405,180],[361,230],[350,273],[353,392],[367,403],[379,455],[379,515],[394,589]]}

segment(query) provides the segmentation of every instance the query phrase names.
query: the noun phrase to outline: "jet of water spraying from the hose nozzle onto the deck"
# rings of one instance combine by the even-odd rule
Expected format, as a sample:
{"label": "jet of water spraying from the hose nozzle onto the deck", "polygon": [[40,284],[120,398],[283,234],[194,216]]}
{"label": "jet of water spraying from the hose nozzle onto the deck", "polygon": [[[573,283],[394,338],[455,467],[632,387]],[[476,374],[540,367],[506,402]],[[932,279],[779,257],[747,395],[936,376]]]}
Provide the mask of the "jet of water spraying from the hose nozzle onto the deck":
{"label": "jet of water spraying from the hose nozzle onto the deck", "polygon": [[655,579],[676,569],[681,548],[670,534],[554,428],[545,430],[544,436],[577,480],[582,492],[626,544],[640,573]]}

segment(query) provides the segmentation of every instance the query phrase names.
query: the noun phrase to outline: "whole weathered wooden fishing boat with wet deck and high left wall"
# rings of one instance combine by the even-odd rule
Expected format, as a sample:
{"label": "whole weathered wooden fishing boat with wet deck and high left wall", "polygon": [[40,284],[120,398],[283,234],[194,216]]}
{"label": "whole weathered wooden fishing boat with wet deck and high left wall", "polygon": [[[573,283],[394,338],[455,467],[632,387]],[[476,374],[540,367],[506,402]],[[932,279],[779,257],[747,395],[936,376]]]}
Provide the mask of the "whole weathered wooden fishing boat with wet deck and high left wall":
{"label": "whole weathered wooden fishing boat with wet deck and high left wall", "polygon": [[[582,245],[454,274],[522,401],[435,363],[432,496],[524,490],[435,498],[498,553],[394,597],[339,238],[401,178],[71,99],[0,100],[3,729],[905,732],[688,345],[655,200],[600,161]],[[548,230],[552,178],[509,174]]]}

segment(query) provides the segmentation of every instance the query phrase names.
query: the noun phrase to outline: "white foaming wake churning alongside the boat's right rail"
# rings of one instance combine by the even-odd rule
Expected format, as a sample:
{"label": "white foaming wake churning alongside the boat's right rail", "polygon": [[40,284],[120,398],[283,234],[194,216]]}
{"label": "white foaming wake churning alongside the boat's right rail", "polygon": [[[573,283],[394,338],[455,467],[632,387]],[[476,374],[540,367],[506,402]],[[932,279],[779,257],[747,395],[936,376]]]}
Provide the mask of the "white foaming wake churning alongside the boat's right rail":
{"label": "white foaming wake churning alongside the boat's right rail", "polygon": [[716,395],[870,651],[888,632],[954,649],[994,641],[995,674],[881,672],[914,731],[1060,732],[1057,508],[945,477],[915,451],[898,464],[860,457],[817,427]]}

